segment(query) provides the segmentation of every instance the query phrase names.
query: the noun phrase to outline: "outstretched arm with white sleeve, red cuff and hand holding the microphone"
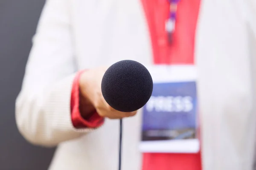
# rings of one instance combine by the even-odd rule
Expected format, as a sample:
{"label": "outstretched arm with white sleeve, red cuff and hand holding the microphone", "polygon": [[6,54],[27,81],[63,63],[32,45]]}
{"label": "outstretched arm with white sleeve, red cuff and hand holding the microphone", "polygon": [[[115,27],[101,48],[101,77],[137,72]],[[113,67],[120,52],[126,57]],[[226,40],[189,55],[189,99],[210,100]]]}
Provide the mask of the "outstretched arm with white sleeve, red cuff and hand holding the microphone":
{"label": "outstretched arm with white sleeve, red cuff and hand holding the microphone", "polygon": [[102,125],[102,117],[121,119],[136,114],[116,111],[105,101],[101,93],[105,68],[76,77],[71,1],[47,0],[16,100],[17,127],[33,144],[55,146]]}

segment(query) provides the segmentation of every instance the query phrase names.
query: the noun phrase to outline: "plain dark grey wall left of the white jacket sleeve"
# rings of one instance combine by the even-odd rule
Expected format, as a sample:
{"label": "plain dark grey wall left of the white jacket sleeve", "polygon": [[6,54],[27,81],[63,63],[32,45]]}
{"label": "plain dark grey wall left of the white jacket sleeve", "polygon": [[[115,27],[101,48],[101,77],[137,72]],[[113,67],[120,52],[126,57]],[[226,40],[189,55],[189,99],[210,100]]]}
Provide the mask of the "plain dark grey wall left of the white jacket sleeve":
{"label": "plain dark grey wall left of the white jacket sleeve", "polygon": [[54,149],[35,147],[15,125],[15,99],[44,0],[0,0],[0,170],[47,170]]}

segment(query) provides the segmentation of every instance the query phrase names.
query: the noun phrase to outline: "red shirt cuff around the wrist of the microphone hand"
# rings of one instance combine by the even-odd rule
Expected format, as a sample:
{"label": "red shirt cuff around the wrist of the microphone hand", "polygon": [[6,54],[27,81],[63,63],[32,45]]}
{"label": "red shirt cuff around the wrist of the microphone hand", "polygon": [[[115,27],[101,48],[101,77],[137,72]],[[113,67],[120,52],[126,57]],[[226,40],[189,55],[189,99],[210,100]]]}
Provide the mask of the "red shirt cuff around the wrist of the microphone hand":
{"label": "red shirt cuff around the wrist of the microphone hand", "polygon": [[73,126],[76,128],[96,128],[101,126],[104,123],[104,118],[99,116],[97,112],[93,113],[88,119],[84,119],[81,116],[80,110],[79,110],[79,79],[81,76],[81,73],[83,71],[79,71],[76,74],[76,77],[73,81],[72,86],[72,92],[71,92],[71,121],[73,123]]}

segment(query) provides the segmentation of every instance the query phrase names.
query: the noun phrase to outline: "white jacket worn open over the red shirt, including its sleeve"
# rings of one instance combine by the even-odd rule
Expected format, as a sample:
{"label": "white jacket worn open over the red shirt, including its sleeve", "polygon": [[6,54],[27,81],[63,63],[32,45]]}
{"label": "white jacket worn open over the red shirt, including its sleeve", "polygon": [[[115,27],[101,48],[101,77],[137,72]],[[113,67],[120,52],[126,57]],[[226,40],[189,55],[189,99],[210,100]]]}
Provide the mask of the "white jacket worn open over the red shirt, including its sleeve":
{"label": "white jacket worn open over the red shirt, including its sleeve", "polygon": [[[195,39],[203,170],[252,170],[256,3],[202,0]],[[55,146],[50,170],[116,170],[118,120],[76,130],[70,93],[77,70],[133,59],[152,63],[140,0],[47,0],[16,102],[20,133]],[[124,119],[122,170],[140,170],[140,116]],[[186,163],[186,162],[184,162]]]}

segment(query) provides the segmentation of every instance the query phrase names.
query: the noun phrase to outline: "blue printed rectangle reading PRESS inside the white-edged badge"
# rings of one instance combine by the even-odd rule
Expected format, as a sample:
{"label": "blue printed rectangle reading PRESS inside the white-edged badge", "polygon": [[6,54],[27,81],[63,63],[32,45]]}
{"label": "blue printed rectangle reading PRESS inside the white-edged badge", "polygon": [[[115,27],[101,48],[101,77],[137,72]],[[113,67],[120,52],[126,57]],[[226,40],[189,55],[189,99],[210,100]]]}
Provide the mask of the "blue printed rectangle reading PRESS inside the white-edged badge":
{"label": "blue printed rectangle reading PRESS inside the white-edged badge", "polygon": [[195,82],[155,83],[143,108],[142,140],[195,138],[196,110]]}

